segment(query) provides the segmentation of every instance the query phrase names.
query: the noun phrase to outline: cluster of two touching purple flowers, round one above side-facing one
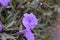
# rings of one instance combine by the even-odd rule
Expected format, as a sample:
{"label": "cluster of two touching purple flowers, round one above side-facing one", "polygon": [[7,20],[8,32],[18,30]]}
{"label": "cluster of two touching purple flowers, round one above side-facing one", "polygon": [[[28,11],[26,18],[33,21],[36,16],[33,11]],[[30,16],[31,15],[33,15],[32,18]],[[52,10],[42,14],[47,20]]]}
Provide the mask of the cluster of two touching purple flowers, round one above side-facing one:
{"label": "cluster of two touching purple flowers, round one above side-facing one", "polygon": [[33,13],[25,13],[22,24],[26,27],[25,30],[20,30],[18,34],[24,34],[27,40],[34,40],[34,35],[30,29],[33,29],[38,24],[38,19]]}

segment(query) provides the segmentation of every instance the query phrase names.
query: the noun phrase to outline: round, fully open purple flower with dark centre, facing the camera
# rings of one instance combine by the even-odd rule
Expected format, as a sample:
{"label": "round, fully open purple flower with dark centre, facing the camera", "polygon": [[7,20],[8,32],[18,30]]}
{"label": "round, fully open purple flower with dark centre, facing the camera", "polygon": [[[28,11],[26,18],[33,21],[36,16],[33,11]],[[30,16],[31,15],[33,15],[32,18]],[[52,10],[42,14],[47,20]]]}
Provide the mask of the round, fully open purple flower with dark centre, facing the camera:
{"label": "round, fully open purple flower with dark centre, facing the camera", "polygon": [[25,13],[22,20],[23,25],[28,29],[33,29],[38,24],[38,19],[33,13]]}

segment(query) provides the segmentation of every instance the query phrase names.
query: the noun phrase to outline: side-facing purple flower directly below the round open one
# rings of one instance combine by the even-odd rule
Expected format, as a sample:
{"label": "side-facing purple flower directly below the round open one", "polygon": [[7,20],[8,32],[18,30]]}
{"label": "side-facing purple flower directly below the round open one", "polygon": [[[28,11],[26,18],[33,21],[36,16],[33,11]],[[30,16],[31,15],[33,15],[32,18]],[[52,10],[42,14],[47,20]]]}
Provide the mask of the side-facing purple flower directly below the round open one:
{"label": "side-facing purple flower directly below the round open one", "polygon": [[29,29],[20,30],[18,32],[18,34],[23,34],[23,33],[24,33],[24,36],[27,38],[27,40],[34,40],[34,35]]}

